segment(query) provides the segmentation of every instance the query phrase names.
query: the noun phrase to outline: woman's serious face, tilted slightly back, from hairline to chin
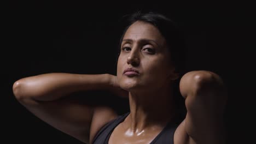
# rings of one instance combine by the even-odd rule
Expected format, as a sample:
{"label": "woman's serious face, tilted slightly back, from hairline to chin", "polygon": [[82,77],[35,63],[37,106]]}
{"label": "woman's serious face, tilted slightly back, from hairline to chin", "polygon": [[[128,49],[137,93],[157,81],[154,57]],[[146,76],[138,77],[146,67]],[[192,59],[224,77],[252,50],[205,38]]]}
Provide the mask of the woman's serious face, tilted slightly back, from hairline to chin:
{"label": "woman's serious face, tilted slightly back, from hairline to chin", "polygon": [[[165,38],[150,23],[136,21],[126,31],[118,58],[117,77],[126,91],[154,91],[177,79]],[[127,68],[137,70],[124,71]]]}

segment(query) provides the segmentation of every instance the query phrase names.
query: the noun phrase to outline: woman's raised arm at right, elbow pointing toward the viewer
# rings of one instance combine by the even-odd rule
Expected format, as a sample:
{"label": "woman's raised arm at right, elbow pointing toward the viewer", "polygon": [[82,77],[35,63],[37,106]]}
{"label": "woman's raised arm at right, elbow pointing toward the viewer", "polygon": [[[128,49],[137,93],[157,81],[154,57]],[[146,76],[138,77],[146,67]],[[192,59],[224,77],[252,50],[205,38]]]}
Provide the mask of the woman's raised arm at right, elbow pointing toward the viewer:
{"label": "woman's raised arm at right, elbow pointing toward the viewer", "polygon": [[225,143],[224,109],[227,100],[222,79],[211,71],[190,71],[180,82],[187,116],[177,135],[182,143]]}

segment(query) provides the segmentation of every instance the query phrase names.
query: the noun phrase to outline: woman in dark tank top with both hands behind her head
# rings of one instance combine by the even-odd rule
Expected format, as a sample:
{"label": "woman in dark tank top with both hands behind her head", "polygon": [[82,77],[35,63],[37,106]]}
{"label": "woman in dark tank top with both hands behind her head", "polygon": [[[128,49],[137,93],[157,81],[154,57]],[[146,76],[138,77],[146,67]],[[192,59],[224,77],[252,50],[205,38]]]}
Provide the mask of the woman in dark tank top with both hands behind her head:
{"label": "woman in dark tank top with both hands behind her head", "polygon": [[[181,73],[178,33],[165,16],[136,13],[129,20],[120,40],[117,76],[26,77],[13,85],[16,99],[46,123],[85,143],[225,143],[222,79],[205,70]],[[180,77],[187,114],[177,123],[173,87]],[[89,90],[129,97],[130,112],[119,116],[110,107],[66,97]]]}

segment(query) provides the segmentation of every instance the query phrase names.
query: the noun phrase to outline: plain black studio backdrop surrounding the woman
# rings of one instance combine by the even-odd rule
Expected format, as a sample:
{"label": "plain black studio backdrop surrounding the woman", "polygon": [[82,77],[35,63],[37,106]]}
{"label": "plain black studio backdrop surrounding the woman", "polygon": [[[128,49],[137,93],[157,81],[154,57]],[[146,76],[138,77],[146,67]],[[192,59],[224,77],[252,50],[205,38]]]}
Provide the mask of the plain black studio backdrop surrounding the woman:
{"label": "plain black studio backdrop surrounding the woman", "polygon": [[158,11],[181,25],[189,47],[188,70],[214,71],[228,88],[228,143],[249,141],[246,128],[252,115],[248,102],[252,94],[246,92],[253,89],[248,85],[253,67],[250,8],[240,4],[201,7],[196,3],[109,5],[16,2],[5,8],[2,55],[7,58],[1,58],[1,119],[2,136],[8,143],[82,143],[28,112],[15,100],[12,85],[22,77],[44,73],[115,74],[123,28],[119,20],[137,9]]}

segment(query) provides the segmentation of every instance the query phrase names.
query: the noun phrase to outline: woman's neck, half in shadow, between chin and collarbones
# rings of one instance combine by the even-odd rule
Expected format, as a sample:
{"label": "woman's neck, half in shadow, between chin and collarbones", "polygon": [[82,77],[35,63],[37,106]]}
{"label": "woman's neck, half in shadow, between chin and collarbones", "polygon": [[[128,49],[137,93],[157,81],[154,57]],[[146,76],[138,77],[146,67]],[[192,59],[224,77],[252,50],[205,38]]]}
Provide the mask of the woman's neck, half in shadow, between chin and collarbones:
{"label": "woman's neck, half in shadow, between chin and collarbones", "polygon": [[129,92],[130,115],[127,125],[130,131],[139,133],[149,128],[163,128],[174,116],[170,88],[154,92]]}

